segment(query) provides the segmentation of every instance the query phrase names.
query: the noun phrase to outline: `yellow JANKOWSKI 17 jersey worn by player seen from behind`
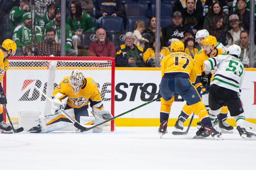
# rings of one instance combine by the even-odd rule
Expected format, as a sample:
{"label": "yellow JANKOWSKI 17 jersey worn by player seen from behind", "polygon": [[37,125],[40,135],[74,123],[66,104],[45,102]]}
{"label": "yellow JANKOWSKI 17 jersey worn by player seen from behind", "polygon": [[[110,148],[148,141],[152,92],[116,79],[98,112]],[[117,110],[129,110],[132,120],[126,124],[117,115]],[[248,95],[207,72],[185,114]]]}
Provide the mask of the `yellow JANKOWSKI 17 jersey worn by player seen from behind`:
{"label": "yellow JANKOWSKI 17 jersey worn by player seen from behind", "polygon": [[195,62],[184,52],[174,52],[166,55],[161,61],[162,78],[184,77],[192,83],[196,80]]}

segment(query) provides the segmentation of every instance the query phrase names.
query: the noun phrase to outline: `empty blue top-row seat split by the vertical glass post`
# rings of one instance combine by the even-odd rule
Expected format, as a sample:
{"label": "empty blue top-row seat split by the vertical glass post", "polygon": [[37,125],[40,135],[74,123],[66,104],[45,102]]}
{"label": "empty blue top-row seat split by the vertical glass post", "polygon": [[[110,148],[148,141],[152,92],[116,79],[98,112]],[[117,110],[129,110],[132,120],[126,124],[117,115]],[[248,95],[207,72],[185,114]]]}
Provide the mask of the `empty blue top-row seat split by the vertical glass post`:
{"label": "empty blue top-row seat split by the vertical glass post", "polygon": [[[156,15],[156,4],[151,4],[152,15]],[[173,17],[173,3],[161,2],[161,17]]]}

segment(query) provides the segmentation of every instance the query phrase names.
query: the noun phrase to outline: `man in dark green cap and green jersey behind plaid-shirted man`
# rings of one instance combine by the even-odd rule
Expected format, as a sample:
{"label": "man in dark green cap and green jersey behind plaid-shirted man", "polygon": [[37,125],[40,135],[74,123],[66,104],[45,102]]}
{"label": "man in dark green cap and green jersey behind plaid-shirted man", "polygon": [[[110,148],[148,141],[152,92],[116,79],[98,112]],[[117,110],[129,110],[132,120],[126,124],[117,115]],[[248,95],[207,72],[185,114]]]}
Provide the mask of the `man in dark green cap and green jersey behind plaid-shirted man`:
{"label": "man in dark green cap and green jersey behind plaid-shirted man", "polygon": [[[45,26],[45,30],[47,28],[54,28],[56,31],[56,35],[54,40],[60,44],[60,23],[61,23],[61,13],[60,13],[60,6],[57,5],[55,7],[55,11],[54,11],[54,16],[55,19],[53,19],[51,22],[49,22],[48,24],[46,24]],[[46,37],[46,34],[44,33],[44,37]],[[65,52],[66,52],[66,56],[76,56],[76,52],[74,49],[71,48],[72,47],[72,33],[71,33],[71,28],[70,26],[66,23],[66,45],[65,45]]]}

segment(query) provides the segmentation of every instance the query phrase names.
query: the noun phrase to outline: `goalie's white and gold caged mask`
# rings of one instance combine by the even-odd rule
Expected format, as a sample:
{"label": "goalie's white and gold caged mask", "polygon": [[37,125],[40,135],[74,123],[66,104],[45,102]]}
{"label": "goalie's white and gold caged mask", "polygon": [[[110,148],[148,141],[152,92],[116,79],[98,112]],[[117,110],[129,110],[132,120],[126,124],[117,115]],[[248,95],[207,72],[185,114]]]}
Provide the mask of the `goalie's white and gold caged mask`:
{"label": "goalie's white and gold caged mask", "polygon": [[77,92],[83,85],[84,75],[79,70],[73,70],[69,77],[69,84],[73,87],[74,92]]}

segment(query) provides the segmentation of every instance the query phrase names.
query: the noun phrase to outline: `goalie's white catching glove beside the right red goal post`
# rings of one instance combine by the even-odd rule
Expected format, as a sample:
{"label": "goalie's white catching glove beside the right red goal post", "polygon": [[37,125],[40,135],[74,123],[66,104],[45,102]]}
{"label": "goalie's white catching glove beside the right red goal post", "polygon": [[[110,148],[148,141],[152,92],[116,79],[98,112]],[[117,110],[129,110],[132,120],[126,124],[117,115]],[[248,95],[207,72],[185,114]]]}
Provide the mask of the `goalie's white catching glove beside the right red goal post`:
{"label": "goalie's white catching glove beside the right red goal post", "polygon": [[106,110],[103,106],[103,103],[100,102],[92,106],[92,115],[97,117],[100,120],[106,121],[108,119],[113,118],[113,116]]}

